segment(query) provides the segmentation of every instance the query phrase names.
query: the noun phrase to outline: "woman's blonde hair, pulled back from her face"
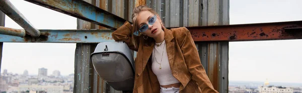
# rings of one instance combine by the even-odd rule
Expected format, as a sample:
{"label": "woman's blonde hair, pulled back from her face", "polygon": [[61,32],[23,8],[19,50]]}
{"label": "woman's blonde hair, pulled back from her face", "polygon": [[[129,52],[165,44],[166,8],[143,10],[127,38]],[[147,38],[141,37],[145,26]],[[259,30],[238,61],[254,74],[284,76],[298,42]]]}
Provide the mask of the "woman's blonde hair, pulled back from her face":
{"label": "woman's blonde hair, pulled back from her face", "polygon": [[[138,15],[138,13],[140,12],[140,11],[144,11],[144,10],[148,10],[148,11],[150,11],[151,13],[154,13],[154,14],[156,14],[156,15],[159,15],[153,8],[150,8],[150,7],[147,7],[147,6],[145,6],[145,5],[139,5],[139,6],[137,6],[137,7],[135,7],[134,9],[133,9],[133,13],[132,13],[132,22],[133,22],[133,32],[132,32],[132,43],[134,44],[134,47],[135,48],[138,48],[137,46],[137,42],[135,41],[135,38],[134,38],[134,32],[135,31],[138,31],[138,27],[139,27],[139,25],[137,24],[137,15]],[[160,22],[162,22],[162,21],[160,21]],[[163,25],[163,24],[162,24]],[[141,33],[138,31],[138,36],[140,36],[141,35]]]}

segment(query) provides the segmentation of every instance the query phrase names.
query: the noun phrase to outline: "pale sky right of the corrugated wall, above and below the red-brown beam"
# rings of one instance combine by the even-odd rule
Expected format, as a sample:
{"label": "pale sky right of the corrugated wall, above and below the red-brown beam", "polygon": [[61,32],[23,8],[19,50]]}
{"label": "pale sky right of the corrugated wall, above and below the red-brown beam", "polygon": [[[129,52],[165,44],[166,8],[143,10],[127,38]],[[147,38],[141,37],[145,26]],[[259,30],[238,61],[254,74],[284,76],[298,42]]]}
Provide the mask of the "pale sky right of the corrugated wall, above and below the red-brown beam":
{"label": "pale sky right of the corrugated wall, above and below the red-brown beam", "polygon": [[[230,24],[302,20],[302,0],[230,0]],[[302,83],[302,39],[230,42],[229,80]]]}

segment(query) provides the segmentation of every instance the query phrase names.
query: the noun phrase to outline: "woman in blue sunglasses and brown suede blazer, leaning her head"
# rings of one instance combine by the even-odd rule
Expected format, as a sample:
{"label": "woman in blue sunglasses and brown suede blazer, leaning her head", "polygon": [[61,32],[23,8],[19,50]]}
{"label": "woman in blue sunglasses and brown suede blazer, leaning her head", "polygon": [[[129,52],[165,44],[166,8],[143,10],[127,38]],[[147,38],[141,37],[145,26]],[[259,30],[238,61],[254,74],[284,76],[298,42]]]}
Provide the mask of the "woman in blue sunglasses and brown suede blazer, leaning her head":
{"label": "woman in blue sunglasses and brown suede blazer, leaning her head", "polygon": [[157,12],[135,7],[133,26],[126,21],[112,33],[137,51],[133,92],[217,92],[186,27],[167,29]]}

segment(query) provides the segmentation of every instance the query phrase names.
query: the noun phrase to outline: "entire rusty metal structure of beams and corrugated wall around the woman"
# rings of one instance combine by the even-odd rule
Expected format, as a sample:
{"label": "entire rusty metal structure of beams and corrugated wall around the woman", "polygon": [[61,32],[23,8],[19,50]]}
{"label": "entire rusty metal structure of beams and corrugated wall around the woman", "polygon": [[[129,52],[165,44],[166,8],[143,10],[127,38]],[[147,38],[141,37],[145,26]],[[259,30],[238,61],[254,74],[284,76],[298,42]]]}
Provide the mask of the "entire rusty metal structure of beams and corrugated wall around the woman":
{"label": "entire rusty metal structure of beams and corrugated wall around the woman", "polygon": [[[186,26],[190,30],[201,62],[219,92],[228,92],[229,41],[302,38],[302,21],[229,25],[229,0],[26,1],[77,17],[77,29],[36,29],[9,0],[0,0],[0,65],[3,42],[77,43],[73,92],[122,92],[99,77],[89,57],[98,42],[114,41],[111,33],[124,21],[131,22],[132,8],[138,5],[154,8],[168,28]],[[4,27],[5,14],[24,29]]]}

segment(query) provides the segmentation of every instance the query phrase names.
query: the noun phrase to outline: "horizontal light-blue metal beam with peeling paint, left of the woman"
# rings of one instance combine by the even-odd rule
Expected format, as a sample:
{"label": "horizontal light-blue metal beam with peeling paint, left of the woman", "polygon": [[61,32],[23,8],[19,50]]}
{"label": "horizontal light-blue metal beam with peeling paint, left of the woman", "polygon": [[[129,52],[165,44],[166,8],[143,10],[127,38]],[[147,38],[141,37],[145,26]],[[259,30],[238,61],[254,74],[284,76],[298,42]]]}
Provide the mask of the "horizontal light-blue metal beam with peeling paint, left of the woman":
{"label": "horizontal light-blue metal beam with peeling paint, left of the woman", "polygon": [[[4,29],[13,29],[0,26]],[[61,42],[61,43],[98,43],[104,41],[114,41],[111,36],[111,29],[87,29],[87,30],[56,30],[56,29],[39,29],[40,36],[32,37],[25,35],[23,38],[12,35],[0,34],[0,42]]]}

